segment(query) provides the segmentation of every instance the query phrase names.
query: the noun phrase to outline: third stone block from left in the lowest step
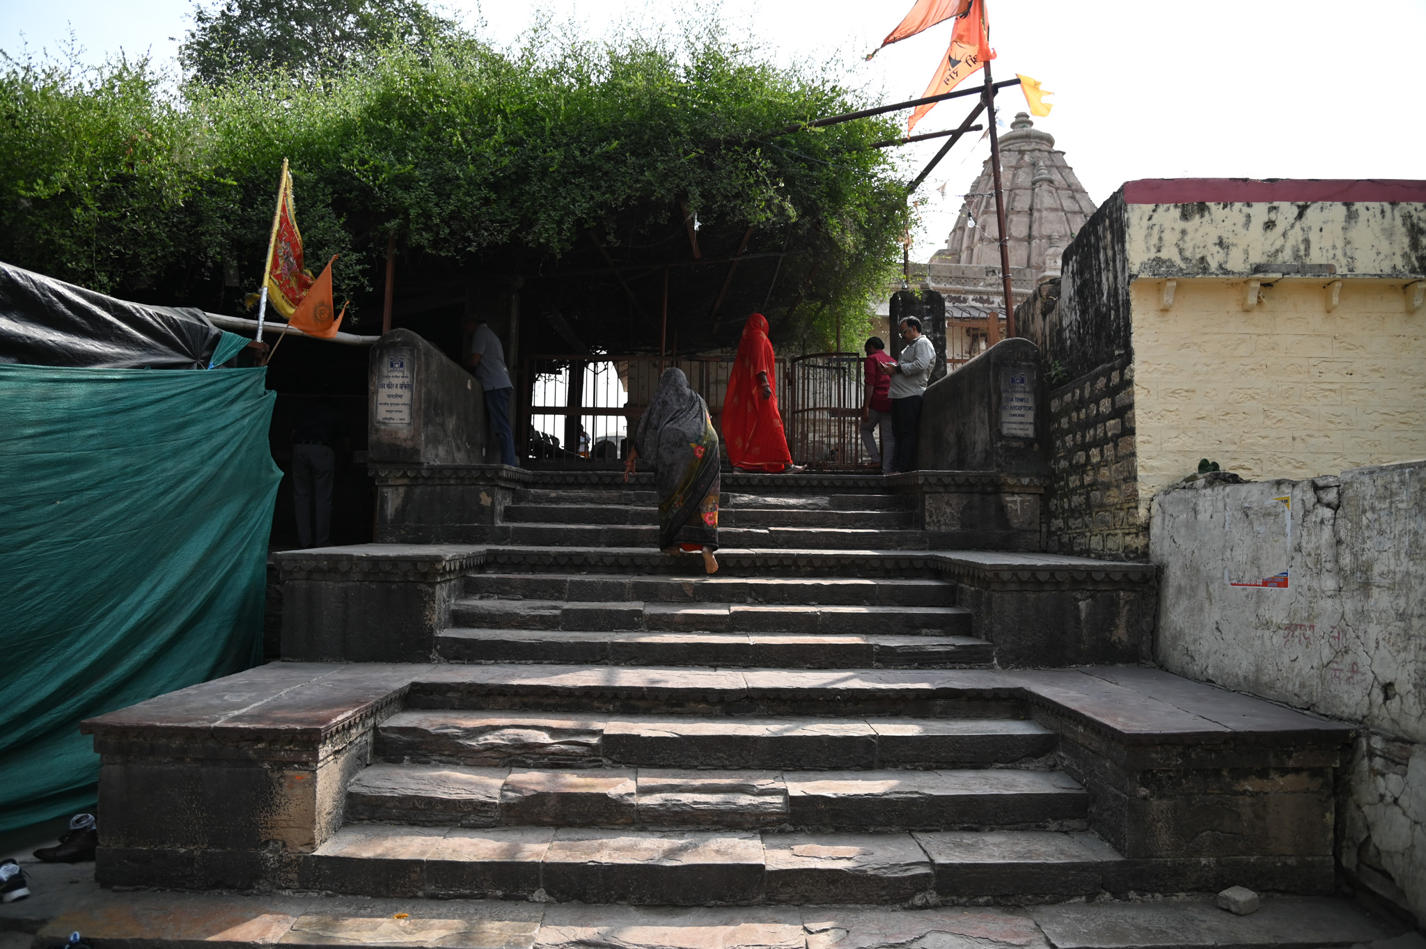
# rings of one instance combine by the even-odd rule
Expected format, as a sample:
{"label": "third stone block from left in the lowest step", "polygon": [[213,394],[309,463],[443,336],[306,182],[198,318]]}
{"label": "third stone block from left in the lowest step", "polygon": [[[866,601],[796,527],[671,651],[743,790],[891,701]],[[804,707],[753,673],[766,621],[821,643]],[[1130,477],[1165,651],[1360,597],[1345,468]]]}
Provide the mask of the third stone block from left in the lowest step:
{"label": "third stone block from left in the lowest step", "polygon": [[787,903],[897,903],[931,888],[910,834],[764,834],[766,893]]}

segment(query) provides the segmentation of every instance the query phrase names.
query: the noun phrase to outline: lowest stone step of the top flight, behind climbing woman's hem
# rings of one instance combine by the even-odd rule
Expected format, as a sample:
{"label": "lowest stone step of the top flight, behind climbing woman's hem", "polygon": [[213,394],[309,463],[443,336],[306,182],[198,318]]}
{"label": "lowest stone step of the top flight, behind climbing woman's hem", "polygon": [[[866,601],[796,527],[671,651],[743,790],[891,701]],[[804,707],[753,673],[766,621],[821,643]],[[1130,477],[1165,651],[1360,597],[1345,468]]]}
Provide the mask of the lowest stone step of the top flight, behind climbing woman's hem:
{"label": "lowest stone step of the top flight, behind climbing woman's hem", "polygon": [[[529,547],[656,547],[657,523],[647,524],[505,524],[508,543]],[[720,527],[719,544],[770,550],[925,550],[924,530],[870,527]]]}

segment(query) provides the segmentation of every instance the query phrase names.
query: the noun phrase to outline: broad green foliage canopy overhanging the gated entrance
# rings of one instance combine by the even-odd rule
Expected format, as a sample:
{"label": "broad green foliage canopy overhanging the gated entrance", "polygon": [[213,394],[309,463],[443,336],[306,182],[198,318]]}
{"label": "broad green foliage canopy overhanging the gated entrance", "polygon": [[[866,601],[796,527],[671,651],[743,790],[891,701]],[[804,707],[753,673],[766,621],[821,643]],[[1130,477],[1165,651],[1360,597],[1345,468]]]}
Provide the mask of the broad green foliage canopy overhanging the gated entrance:
{"label": "broad green foliage canopy overhanging the gated entrance", "polygon": [[[238,1],[238,0],[234,0]],[[371,294],[402,254],[482,272],[548,266],[595,229],[637,245],[686,202],[789,249],[781,335],[866,322],[897,264],[906,190],[884,120],[767,130],[866,103],[827,70],[780,68],[716,27],[603,43],[536,31],[389,41],[321,78],[244,68],[168,90],[145,63],[14,61],[0,74],[0,258],[94,289],[232,311],[257,284],[291,161],[308,259],[342,254]],[[586,245],[588,249],[588,245]]]}

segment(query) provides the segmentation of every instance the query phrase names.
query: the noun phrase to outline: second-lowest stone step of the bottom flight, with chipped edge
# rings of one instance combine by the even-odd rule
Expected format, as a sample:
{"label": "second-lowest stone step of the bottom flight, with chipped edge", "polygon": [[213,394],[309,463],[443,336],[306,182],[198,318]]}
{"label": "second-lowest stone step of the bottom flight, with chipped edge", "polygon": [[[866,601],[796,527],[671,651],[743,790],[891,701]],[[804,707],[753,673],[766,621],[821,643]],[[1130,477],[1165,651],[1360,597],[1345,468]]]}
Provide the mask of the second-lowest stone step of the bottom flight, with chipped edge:
{"label": "second-lowest stone step of the bottom flight, with chipped edge", "polygon": [[[1087,829],[1089,798],[1062,772],[529,771],[374,764],[347,821],[449,826]],[[1070,826],[1070,825],[1074,826]]]}

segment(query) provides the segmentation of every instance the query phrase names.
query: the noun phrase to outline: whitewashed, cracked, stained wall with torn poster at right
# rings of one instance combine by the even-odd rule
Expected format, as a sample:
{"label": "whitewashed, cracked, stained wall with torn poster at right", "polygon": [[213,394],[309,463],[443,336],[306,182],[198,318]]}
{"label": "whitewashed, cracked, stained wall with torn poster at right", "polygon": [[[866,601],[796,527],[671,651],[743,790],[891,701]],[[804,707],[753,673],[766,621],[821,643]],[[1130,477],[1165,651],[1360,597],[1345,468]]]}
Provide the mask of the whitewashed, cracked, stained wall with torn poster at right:
{"label": "whitewashed, cracked, stained wall with torn poster at right", "polygon": [[1164,492],[1164,668],[1360,724],[1336,856],[1426,922],[1426,462]]}

